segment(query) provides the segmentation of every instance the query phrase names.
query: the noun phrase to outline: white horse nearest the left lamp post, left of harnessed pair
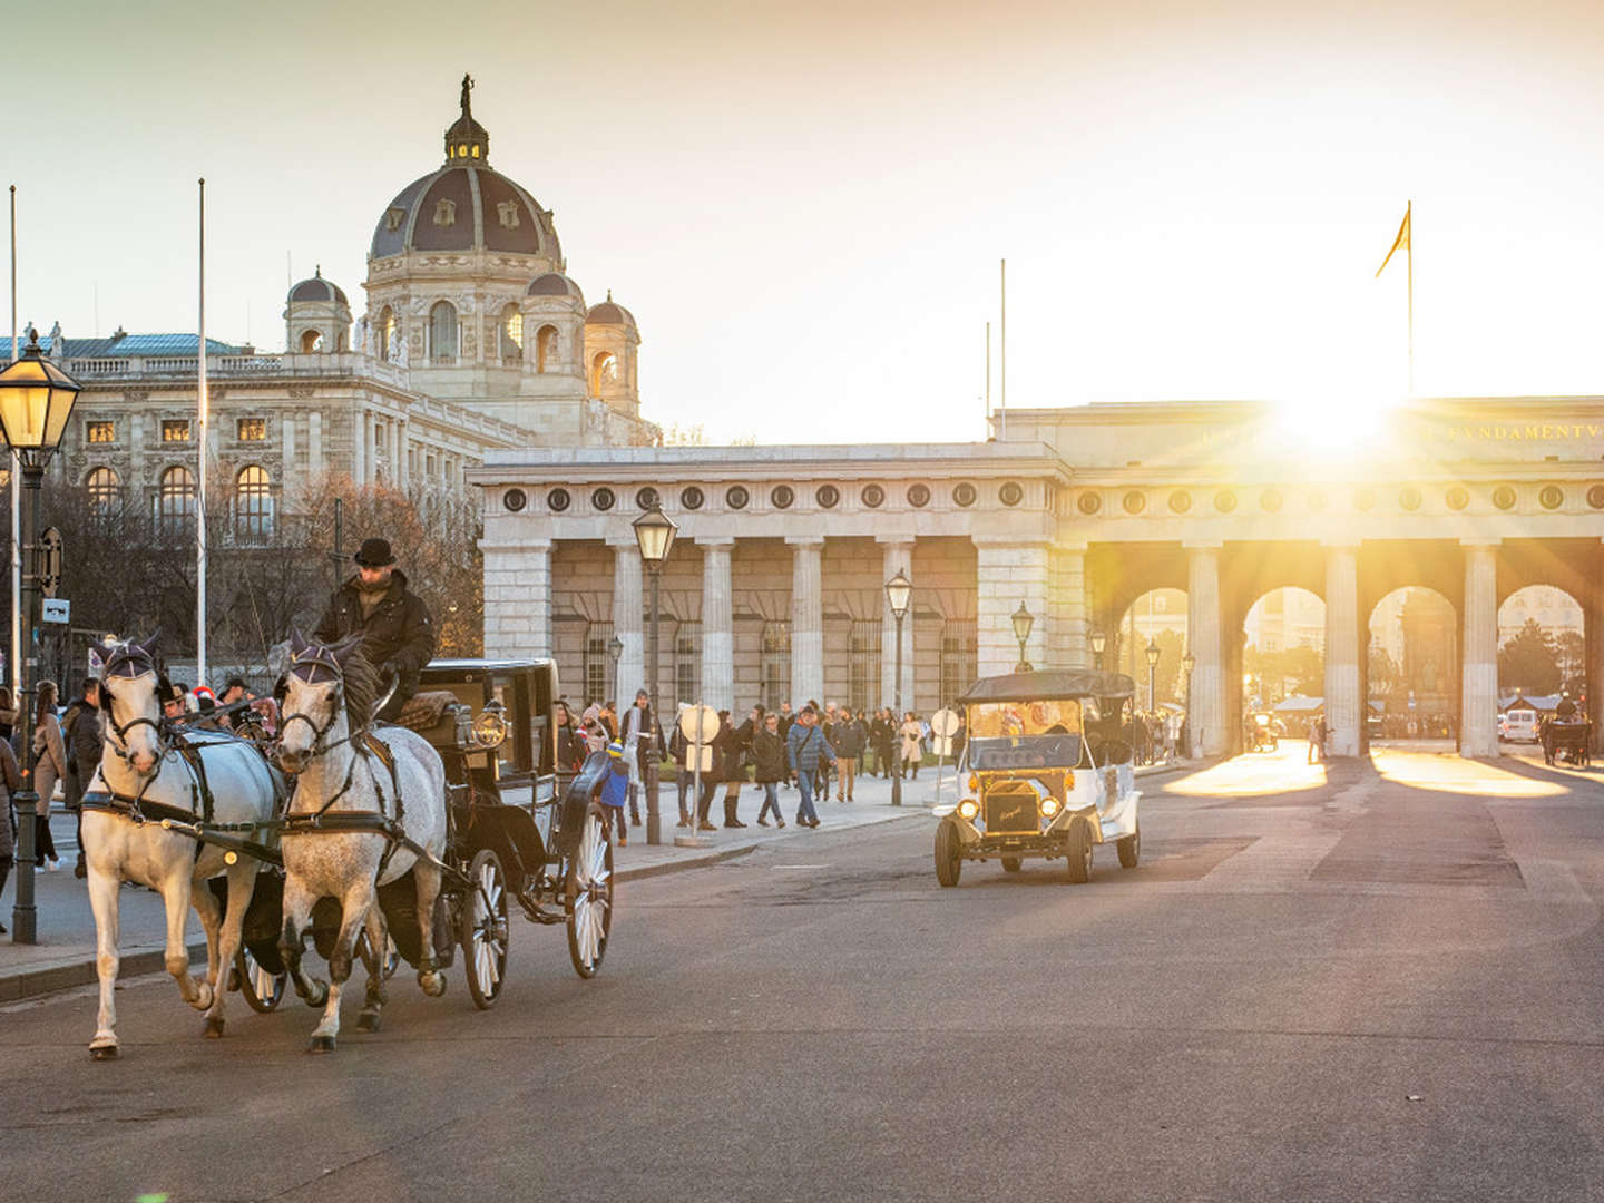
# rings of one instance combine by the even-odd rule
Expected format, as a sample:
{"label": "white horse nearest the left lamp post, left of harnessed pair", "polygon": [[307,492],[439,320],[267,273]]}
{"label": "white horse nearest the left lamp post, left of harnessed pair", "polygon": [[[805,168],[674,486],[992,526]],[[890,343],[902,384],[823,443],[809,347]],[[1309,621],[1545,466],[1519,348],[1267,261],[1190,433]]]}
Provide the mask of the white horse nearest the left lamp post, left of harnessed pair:
{"label": "white horse nearest the left lamp post, left of harnessed pair", "polygon": [[[258,861],[239,857],[226,865],[223,850],[165,831],[162,818],[194,823],[257,824],[273,818],[282,789],[266,760],[242,739],[217,731],[175,736],[162,719],[167,680],[156,667],[156,635],[144,643],[96,643],[101,670],[104,743],[101,762],[85,789],[83,860],[95,909],[95,969],[99,1017],[90,1055],[117,1055],[117,895],[122,882],[149,885],[167,905],[167,972],[184,1003],[205,1012],[205,1035],[223,1035],[228,970],[239,951],[241,926],[257,881]],[[178,751],[189,744],[200,770]],[[241,834],[252,836],[250,831]],[[228,919],[220,924],[209,877],[228,874]],[[205,980],[189,974],[184,926],[194,906],[205,929]]]}

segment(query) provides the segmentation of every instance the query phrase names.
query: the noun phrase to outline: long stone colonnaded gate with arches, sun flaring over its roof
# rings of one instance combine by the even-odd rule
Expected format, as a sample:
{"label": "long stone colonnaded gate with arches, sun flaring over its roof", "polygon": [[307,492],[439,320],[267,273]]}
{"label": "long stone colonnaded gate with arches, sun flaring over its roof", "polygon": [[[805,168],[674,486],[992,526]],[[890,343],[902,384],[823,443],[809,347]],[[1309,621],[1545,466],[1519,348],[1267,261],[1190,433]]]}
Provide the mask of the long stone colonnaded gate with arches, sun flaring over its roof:
{"label": "long stone colonnaded gate with arches, sun flaring over its roof", "polygon": [[[484,651],[555,656],[565,691],[646,677],[630,523],[680,526],[662,568],[661,703],[736,712],[808,698],[890,704],[897,626],[884,582],[914,584],[901,698],[929,712],[1020,659],[1091,666],[1142,593],[1187,595],[1189,738],[1233,751],[1243,621],[1285,585],[1325,602],[1330,747],[1365,741],[1368,618],[1389,592],[1453,608],[1450,691],[1464,755],[1493,755],[1498,606],[1557,585],[1585,614],[1604,696],[1604,398],[1343,406],[1091,404],[1009,409],[985,443],[579,448],[491,452]],[[610,648],[611,653],[610,654]],[[1594,707],[1596,709],[1596,704]]]}

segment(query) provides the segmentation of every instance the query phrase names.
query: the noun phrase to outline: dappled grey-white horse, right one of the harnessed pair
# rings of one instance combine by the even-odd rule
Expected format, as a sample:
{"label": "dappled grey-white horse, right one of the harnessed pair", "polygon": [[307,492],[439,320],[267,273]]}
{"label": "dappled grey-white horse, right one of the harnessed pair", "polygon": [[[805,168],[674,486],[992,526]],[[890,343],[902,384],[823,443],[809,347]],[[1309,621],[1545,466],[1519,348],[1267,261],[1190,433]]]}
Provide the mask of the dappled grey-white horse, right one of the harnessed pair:
{"label": "dappled grey-white horse, right one of the harnessed pair", "polygon": [[[279,953],[297,993],[311,1006],[326,1004],[311,1035],[311,1052],[334,1051],[340,990],[351,975],[358,932],[366,929],[367,950],[387,946],[379,887],[409,871],[422,937],[417,980],[425,994],[446,990],[446,975],[435,967],[433,956],[439,858],[446,852],[446,768],[439,752],[404,727],[372,731],[395,762],[393,776],[367,746],[379,698],[374,669],[359,646],[361,637],[322,646],[292,632],[290,667],[281,683],[279,765],[295,776],[295,794],[279,836],[284,852]],[[300,969],[302,940],[319,898],[334,898],[342,911],[329,954],[332,985],[311,982]],[[369,956],[359,1031],[379,1031],[383,1003],[382,964]]]}

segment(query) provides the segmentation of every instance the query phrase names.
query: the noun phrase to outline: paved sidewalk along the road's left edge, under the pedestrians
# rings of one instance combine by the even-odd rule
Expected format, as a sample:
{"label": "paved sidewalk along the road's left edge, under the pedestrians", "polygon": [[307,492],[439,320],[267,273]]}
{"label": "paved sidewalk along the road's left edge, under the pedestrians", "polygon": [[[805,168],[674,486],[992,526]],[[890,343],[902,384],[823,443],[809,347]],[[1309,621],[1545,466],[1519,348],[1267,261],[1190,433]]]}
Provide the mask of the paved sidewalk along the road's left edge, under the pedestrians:
{"label": "paved sidewalk along the road's left edge, under the pedestrians", "polygon": [[[1153,765],[1139,768],[1137,775],[1166,775],[1185,768],[1187,765]],[[942,796],[951,802],[954,797],[951,767],[946,768],[942,780]],[[650,845],[645,826],[630,828],[629,845],[618,849],[614,855],[618,879],[624,882],[714,865],[773,840],[808,840],[826,831],[927,815],[935,804],[937,775],[934,770],[924,768],[917,780],[903,781],[901,807],[890,804],[892,783],[889,780],[860,776],[853,792],[855,802],[831,799],[818,804],[820,828],[815,831],[799,828],[794,823],[797,791],[781,788],[780,807],[786,816],[786,828],[778,829],[757,826],[757,808],[762,805],[764,791],[757,786],[747,786],[741,791],[739,805],[739,816],[747,826],[698,832],[704,847],[687,849],[674,844],[675,836],[691,834],[674,826],[678,818],[678,791],[674,784],[664,784],[661,796],[664,842]],[[722,823],[722,791],[714,797],[712,815],[715,821]],[[10,934],[0,937],[0,1004],[95,982],[95,916],[90,911],[83,882],[72,876],[72,865],[77,860],[72,815],[64,812],[51,815],[50,829],[56,839],[56,850],[61,853],[61,869],[34,874],[38,943],[19,945],[11,942]],[[5,895],[0,897],[0,922],[6,929],[13,926],[14,900],[16,869],[6,884]],[[120,977],[160,972],[167,930],[162,900],[151,890],[136,885],[124,885],[120,900]],[[204,962],[205,940],[200,921],[196,919],[194,913],[189,914],[186,937],[191,959]]]}

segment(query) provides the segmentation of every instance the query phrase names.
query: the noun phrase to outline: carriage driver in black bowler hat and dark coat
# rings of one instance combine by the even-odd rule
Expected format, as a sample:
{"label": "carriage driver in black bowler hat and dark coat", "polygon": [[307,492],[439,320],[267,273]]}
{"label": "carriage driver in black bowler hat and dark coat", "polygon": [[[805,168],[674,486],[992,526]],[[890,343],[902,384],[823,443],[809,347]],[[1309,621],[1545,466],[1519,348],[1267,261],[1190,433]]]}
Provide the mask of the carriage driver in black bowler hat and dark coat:
{"label": "carriage driver in black bowler hat and dark coat", "polygon": [[395,566],[388,539],[364,539],[356,552],[356,576],[329,598],[329,608],[313,632],[319,643],[338,643],[361,632],[363,654],[396,691],[379,711],[395,722],[417,678],[435,654],[435,622],[423,600],[406,587],[406,573]]}

